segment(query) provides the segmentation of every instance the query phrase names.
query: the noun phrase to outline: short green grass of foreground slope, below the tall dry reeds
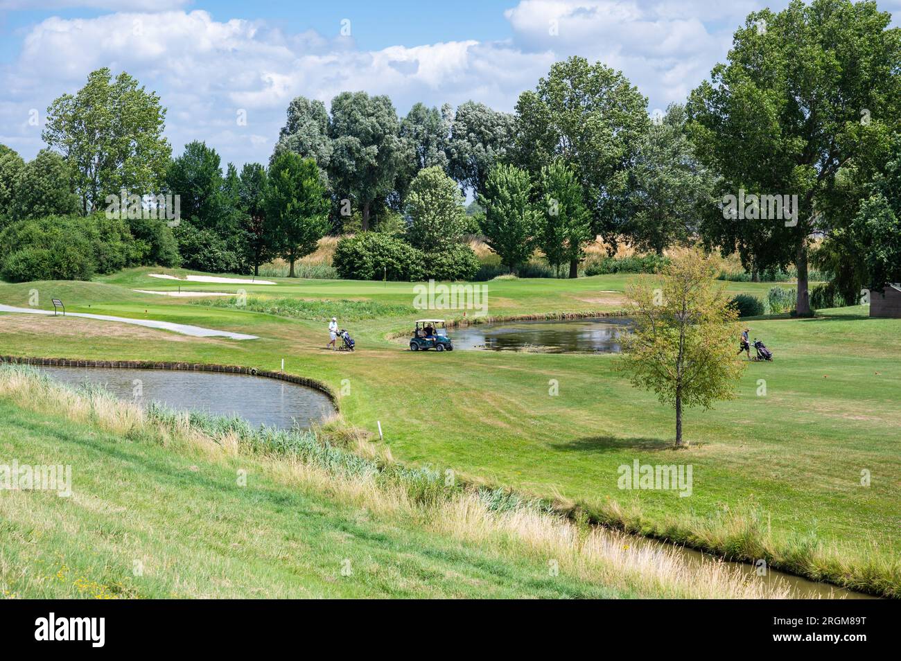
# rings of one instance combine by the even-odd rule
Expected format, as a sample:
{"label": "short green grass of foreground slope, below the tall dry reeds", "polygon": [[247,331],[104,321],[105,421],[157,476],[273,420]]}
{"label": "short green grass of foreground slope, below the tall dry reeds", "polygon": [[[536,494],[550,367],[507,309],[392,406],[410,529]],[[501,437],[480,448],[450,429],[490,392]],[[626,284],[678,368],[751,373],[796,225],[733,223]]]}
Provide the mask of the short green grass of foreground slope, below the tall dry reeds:
{"label": "short green grass of foreground slope, below the tall dry reeds", "polygon": [[[206,461],[8,402],[0,438],[2,455],[20,464],[71,464],[75,483],[68,499],[0,494],[4,596],[629,595],[279,484],[246,457]],[[239,467],[250,474],[245,488]],[[346,560],[351,573],[341,575]]]}

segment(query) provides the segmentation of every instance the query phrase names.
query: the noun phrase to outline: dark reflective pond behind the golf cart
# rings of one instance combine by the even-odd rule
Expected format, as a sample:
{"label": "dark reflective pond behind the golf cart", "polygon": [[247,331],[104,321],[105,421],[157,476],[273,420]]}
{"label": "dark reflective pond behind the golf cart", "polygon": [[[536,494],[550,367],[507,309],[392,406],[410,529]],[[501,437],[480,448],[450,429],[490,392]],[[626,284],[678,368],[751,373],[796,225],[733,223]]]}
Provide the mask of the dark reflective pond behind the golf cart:
{"label": "dark reflective pond behind the golf cart", "polygon": [[619,353],[625,317],[479,323],[450,331],[454,349],[536,353]]}

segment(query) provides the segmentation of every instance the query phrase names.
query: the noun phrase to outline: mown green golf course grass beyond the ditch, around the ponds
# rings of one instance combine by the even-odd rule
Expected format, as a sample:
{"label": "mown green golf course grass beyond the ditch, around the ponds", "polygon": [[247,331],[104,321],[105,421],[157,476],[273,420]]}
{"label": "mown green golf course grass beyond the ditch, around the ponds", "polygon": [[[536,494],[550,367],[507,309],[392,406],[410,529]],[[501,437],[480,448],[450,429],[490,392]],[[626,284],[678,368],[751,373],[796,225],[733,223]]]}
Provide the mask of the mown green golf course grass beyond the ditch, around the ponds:
{"label": "mown green golf course grass beyond the ditch, around the ponds", "polygon": [[[751,364],[733,402],[687,412],[692,447],[675,451],[672,412],[628,385],[613,356],[414,354],[390,337],[415,315],[355,321],[350,331],[359,350],[333,353],[323,349],[323,321],[131,291],[177,289],[179,283],[147,276],[157,271],[132,269],[96,283],[0,285],[0,303],[26,305],[36,289],[42,307],[59,297],[73,312],[146,316],[260,339],[189,339],[113,331],[100,321],[0,315],[0,353],[269,369],[284,358],[286,371],[343,390],[341,414],[350,425],[374,432],[380,421],[391,453],[409,465],[451,467],[471,480],[579,503],[598,520],[631,530],[737,557],[756,551],[807,575],[901,594],[901,320],[870,320],[860,307],[811,320],[750,321],[751,336],[764,340],[775,360]],[[275,279],[278,285],[180,286],[389,306],[409,306],[414,298],[407,283]],[[488,313],[614,311],[627,279],[492,281]],[[724,286],[763,295],[772,284]],[[551,379],[559,384],[556,396]],[[692,464],[692,496],[621,491],[617,467],[633,459]],[[860,485],[861,471],[869,472],[869,486]],[[751,537],[762,539],[756,547],[741,541],[749,526]],[[797,560],[818,549],[834,561]]]}

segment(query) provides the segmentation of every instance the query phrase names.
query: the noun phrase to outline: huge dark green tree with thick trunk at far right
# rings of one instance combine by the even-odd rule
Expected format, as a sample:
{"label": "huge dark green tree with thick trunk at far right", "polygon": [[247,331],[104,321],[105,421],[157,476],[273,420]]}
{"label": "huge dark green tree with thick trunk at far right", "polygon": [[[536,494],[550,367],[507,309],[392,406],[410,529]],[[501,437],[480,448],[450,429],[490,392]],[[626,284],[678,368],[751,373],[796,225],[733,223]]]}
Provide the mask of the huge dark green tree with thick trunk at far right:
{"label": "huge dark green tree with thick trunk at far right", "polygon": [[731,195],[784,195],[789,205],[797,195],[796,217],[751,219],[766,245],[753,255],[747,224],[729,214],[713,221],[715,242],[738,250],[746,267],[751,258],[761,270],[795,263],[799,315],[811,312],[812,237],[842,222],[836,210],[856,206],[842,203],[842,178],[884,161],[901,114],[901,31],[890,22],[875,3],[850,0],[752,13],[727,61],[689,99],[698,153]]}

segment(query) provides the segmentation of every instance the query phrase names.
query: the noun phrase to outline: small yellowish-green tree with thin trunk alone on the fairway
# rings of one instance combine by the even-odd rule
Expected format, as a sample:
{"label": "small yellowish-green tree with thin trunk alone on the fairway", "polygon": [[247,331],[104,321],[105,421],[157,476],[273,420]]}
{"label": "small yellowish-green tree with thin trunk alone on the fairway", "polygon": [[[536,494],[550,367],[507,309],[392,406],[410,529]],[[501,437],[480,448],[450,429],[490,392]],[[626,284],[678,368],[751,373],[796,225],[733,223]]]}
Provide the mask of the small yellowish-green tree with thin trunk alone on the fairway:
{"label": "small yellowish-green tree with thin trunk alone on the fairway", "polygon": [[623,337],[620,367],[633,385],[675,407],[677,448],[688,445],[682,408],[733,399],[746,366],[735,352],[738,312],[714,285],[717,270],[714,258],[684,250],[660,276],[640,276],[626,289],[635,325]]}

